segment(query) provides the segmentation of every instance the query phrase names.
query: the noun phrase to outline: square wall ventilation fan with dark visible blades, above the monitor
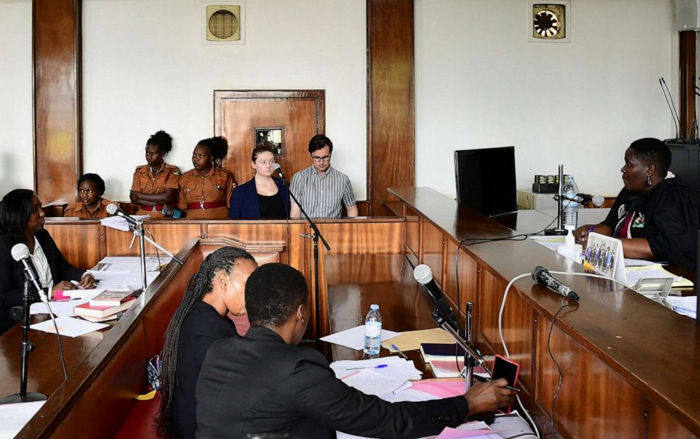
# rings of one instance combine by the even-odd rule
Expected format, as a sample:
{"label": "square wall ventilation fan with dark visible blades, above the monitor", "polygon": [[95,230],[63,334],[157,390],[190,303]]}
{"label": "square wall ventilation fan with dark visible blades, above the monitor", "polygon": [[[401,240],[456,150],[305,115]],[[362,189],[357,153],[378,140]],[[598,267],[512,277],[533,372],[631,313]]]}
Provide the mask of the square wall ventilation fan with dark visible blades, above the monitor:
{"label": "square wall ventilation fan with dark visible blades, above the monitor", "polygon": [[571,0],[527,0],[529,42],[571,42]]}

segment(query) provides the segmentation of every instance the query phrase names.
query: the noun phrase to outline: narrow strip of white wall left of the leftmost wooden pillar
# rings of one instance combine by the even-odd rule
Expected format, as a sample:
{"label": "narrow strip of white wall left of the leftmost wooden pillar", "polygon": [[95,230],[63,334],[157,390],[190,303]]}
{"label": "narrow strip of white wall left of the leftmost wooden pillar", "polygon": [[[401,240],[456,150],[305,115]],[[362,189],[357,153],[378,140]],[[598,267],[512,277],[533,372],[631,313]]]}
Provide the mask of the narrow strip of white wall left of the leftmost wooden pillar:
{"label": "narrow strip of white wall left of the leftmost wooden pillar", "polygon": [[32,1],[0,1],[0,198],[34,187]]}

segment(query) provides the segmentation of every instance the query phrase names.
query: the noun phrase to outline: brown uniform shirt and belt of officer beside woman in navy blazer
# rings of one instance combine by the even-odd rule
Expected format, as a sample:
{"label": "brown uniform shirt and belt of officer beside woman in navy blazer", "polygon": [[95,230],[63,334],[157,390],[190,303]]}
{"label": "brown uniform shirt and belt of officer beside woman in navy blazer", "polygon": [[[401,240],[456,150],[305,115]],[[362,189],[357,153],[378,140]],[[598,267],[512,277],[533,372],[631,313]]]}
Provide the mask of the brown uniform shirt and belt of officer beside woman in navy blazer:
{"label": "brown uniform shirt and belt of officer beside woman in navy blazer", "polygon": [[189,209],[187,218],[191,219],[226,219],[229,218],[229,199],[231,190],[236,187],[234,175],[222,168],[212,167],[207,175],[199,175],[192,169],[180,177],[177,194],[177,208],[188,209],[190,203],[222,202],[221,207],[212,209]]}

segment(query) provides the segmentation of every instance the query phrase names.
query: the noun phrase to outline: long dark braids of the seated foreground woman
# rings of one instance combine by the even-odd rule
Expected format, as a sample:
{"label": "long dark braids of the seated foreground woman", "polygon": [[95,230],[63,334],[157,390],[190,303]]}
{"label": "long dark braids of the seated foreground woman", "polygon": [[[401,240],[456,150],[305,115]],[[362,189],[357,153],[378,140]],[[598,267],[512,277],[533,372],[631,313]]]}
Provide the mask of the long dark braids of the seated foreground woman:
{"label": "long dark braids of the seated foreground woman", "polygon": [[176,309],[165,331],[165,341],[160,352],[161,360],[161,400],[156,418],[156,431],[160,437],[167,437],[170,423],[170,406],[177,384],[177,355],[180,341],[180,328],[187,314],[193,309],[204,295],[212,292],[212,281],[217,273],[224,272],[229,276],[239,260],[248,259],[255,263],[250,253],[234,247],[222,247],[212,252],[203,261],[199,271],[187,283],[187,289],[182,297],[180,306]]}

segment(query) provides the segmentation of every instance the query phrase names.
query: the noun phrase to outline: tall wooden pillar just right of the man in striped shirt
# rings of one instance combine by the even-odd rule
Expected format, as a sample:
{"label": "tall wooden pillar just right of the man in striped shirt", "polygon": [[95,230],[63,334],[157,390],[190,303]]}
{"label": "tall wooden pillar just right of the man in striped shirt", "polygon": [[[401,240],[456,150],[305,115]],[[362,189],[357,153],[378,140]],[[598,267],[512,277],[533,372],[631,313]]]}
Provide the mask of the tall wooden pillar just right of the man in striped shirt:
{"label": "tall wooden pillar just right of the man in striped shirt", "polygon": [[367,191],[380,216],[387,187],[415,180],[413,0],[367,0],[367,58]]}

